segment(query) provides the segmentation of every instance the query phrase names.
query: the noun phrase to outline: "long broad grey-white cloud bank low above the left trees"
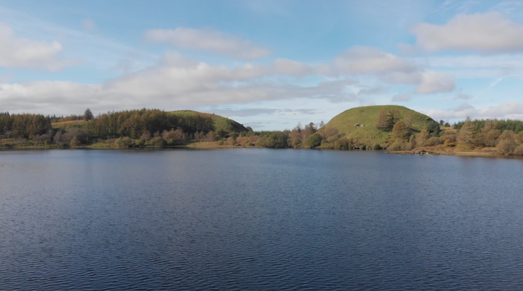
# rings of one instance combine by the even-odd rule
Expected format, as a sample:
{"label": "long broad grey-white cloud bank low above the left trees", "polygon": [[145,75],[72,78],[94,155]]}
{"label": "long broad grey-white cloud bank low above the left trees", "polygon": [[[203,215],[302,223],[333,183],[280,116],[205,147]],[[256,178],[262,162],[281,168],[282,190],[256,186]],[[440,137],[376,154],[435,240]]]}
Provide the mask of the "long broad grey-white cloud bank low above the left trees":
{"label": "long broad grey-white cloud bank low above the left trees", "polygon": [[[302,67],[300,63],[292,64]],[[356,83],[353,80],[297,86],[288,78],[271,78],[281,74],[280,71],[277,62],[269,66],[244,64],[229,68],[189,60],[173,53],[166,54],[152,67],[104,84],[51,81],[2,84],[0,103],[3,110],[11,112],[70,114],[86,107],[100,112],[141,107],[176,109],[291,98],[321,98],[331,102],[356,98],[346,92],[348,85]],[[171,104],[170,108],[166,108],[166,104]],[[60,106],[69,110],[61,110]]]}

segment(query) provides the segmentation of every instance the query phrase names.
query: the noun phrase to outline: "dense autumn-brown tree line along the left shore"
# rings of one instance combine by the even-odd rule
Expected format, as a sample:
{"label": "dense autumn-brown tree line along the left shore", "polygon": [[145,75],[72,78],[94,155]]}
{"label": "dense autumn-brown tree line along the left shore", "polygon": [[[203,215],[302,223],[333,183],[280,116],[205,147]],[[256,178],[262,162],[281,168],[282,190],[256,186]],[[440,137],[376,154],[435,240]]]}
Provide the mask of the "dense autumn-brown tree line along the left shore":
{"label": "dense autumn-brown tree line along the left shore", "polygon": [[[90,109],[80,115],[57,118],[55,115],[10,114],[0,112],[0,138],[31,139],[35,143],[76,146],[99,140],[122,138],[142,139],[140,143],[180,144],[197,138],[213,141],[229,133],[215,133],[211,117],[178,115],[158,109],[140,109],[100,113],[96,117]],[[78,124],[55,125],[54,122],[83,120]],[[209,134],[212,132],[211,134]],[[127,141],[127,139],[126,139]]]}

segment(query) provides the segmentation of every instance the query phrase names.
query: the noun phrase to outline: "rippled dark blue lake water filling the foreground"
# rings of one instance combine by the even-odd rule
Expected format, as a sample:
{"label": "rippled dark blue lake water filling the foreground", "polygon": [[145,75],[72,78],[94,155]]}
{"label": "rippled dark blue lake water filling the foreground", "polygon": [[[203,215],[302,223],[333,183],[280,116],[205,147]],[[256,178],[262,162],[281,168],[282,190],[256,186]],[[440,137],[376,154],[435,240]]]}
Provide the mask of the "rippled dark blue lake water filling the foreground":
{"label": "rippled dark blue lake water filling the foreground", "polygon": [[521,290],[523,160],[0,152],[0,290]]}

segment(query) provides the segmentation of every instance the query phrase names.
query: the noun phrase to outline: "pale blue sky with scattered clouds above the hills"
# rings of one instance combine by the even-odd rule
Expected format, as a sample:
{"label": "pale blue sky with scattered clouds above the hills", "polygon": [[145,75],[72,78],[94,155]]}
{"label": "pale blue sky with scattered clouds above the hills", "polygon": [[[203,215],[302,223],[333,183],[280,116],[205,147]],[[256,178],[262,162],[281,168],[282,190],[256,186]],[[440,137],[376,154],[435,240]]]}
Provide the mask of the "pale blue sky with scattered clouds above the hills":
{"label": "pale blue sky with scattered clouds above the hills", "polygon": [[523,119],[523,1],[0,0],[0,111]]}

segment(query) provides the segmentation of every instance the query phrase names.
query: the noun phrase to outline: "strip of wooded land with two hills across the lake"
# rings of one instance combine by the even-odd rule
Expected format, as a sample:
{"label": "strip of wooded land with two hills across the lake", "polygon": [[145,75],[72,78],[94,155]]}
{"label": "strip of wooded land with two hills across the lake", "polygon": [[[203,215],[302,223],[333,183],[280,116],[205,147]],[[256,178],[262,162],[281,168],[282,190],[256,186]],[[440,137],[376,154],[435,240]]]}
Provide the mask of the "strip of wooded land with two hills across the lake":
{"label": "strip of wooded land with two hills across the lake", "polygon": [[0,148],[320,148],[394,153],[523,155],[523,121],[449,124],[402,106],[346,110],[327,124],[255,131],[210,113],[140,109],[66,117],[0,112]]}

